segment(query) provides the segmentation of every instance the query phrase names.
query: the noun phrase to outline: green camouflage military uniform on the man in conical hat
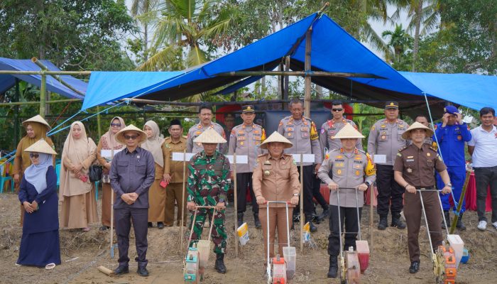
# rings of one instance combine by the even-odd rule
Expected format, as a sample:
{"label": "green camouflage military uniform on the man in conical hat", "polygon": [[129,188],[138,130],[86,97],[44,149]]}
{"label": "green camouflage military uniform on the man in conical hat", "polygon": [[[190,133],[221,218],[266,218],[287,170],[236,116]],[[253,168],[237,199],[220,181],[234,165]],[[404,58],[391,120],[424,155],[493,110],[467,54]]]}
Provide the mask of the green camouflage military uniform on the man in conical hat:
{"label": "green camouflage military uniform on the man in conical hat", "polygon": [[[195,202],[200,206],[215,206],[218,202],[226,202],[226,192],[229,184],[229,160],[222,153],[214,152],[207,156],[202,151],[190,160],[190,175],[188,176],[188,202]],[[192,246],[202,236],[204,221],[209,215],[212,218],[213,209],[198,209],[197,219],[192,234]],[[193,214],[190,226],[193,223]],[[224,253],[226,249],[226,231],[224,231],[224,210],[217,211],[214,216],[214,228],[211,232],[214,242],[214,253]]]}

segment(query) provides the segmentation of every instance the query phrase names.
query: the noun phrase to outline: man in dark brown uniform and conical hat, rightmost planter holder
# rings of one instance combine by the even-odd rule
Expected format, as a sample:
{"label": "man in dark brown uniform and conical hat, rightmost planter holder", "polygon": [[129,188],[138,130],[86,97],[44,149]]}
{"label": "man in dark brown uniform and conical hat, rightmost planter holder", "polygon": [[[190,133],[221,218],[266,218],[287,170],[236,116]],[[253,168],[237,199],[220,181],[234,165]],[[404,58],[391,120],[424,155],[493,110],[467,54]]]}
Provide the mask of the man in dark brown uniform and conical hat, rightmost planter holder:
{"label": "man in dark brown uniform and conical hat, rightmost planter holder", "polygon": [[[425,191],[437,190],[433,174],[435,170],[444,182],[442,194],[450,193],[452,190],[449,173],[447,173],[447,167],[442,162],[442,158],[434,148],[424,143],[427,136],[433,136],[431,129],[419,122],[413,123],[403,133],[403,138],[411,139],[413,144],[397,153],[395,165],[393,165],[395,181],[405,188],[404,216],[408,223],[410,273],[417,273],[420,269],[420,246],[417,238],[420,233],[422,206],[419,195],[422,195],[432,246],[433,250],[436,251],[438,246],[442,244],[442,229],[440,227],[442,212],[437,196],[438,192]],[[421,193],[417,190],[421,190]]]}

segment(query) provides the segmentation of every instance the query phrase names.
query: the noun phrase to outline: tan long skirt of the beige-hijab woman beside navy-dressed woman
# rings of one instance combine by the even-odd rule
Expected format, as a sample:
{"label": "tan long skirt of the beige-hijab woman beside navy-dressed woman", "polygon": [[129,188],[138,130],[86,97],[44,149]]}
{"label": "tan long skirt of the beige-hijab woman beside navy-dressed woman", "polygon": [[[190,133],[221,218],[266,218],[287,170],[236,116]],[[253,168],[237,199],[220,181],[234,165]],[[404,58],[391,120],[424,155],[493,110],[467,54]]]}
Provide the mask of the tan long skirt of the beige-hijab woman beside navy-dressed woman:
{"label": "tan long skirt of the beige-hijab woman beside navy-dressed woman", "polygon": [[95,188],[82,195],[65,196],[62,200],[60,226],[67,229],[86,228],[98,221]]}

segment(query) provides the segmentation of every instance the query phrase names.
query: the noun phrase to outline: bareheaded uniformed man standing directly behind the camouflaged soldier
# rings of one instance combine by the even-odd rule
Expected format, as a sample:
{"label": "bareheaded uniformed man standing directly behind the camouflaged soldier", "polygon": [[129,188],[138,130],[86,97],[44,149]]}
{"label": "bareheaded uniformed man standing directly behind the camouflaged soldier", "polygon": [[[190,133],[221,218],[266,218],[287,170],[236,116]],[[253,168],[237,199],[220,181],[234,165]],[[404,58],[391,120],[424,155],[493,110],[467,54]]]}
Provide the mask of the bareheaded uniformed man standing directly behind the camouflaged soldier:
{"label": "bareheaded uniformed man standing directly behind the camouflaged soldier", "polygon": [[[214,129],[217,133],[219,133],[219,135],[226,139],[223,127],[215,122],[212,122],[212,107],[207,104],[200,106],[199,119],[200,122],[188,130],[187,153],[199,153],[204,150],[204,148],[202,148],[202,143],[195,143],[193,141],[195,138],[200,136],[200,134],[204,133],[206,129]],[[217,150],[219,150],[219,153],[226,153],[226,144],[224,143],[218,145]]]}

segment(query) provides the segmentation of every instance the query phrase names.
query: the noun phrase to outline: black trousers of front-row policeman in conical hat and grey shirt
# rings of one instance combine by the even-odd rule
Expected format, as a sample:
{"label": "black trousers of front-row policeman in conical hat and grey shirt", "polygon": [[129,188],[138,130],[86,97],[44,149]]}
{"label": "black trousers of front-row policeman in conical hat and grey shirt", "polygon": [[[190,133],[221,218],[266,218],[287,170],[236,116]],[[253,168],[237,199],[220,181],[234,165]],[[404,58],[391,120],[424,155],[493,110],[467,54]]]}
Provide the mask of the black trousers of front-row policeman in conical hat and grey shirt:
{"label": "black trousers of front-row policeman in conical hat and grey shirt", "polygon": [[[356,207],[340,207],[340,223],[338,222],[338,206],[329,205],[329,236],[328,236],[328,254],[338,256],[340,253],[340,235],[339,225],[342,224],[342,233],[344,233],[345,224],[345,241],[344,251],[353,246],[356,249],[356,237],[359,232],[359,222],[357,220]],[[362,207],[359,207],[359,220],[362,215]]]}

